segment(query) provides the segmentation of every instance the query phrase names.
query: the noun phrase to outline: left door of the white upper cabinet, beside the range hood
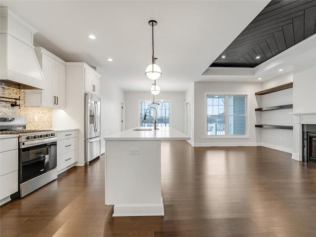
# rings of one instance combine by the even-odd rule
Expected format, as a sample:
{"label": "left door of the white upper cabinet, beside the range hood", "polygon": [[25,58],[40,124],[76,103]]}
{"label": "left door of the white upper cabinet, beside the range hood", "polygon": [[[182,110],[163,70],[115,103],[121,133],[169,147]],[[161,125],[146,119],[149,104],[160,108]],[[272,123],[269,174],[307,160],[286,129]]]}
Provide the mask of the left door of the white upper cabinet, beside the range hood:
{"label": "left door of the white upper cabinet, beside the range hood", "polygon": [[54,104],[53,97],[53,79],[54,79],[55,60],[46,54],[41,54],[41,70],[46,83],[46,89],[41,91],[41,106],[52,108]]}

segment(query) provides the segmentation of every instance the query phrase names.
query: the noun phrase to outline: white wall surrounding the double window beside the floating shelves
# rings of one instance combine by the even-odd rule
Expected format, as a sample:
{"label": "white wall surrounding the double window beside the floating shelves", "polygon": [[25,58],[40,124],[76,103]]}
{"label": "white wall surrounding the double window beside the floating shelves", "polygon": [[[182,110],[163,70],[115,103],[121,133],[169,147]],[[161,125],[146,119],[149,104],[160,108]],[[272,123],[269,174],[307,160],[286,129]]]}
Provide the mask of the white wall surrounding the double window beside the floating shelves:
{"label": "white wall surrounding the double window beside the floating shelves", "polygon": [[[255,92],[261,90],[259,82],[195,82],[194,88],[194,146],[255,146],[261,142],[261,133],[256,132],[258,108]],[[224,139],[204,138],[205,93],[247,93],[249,94],[249,138]]]}

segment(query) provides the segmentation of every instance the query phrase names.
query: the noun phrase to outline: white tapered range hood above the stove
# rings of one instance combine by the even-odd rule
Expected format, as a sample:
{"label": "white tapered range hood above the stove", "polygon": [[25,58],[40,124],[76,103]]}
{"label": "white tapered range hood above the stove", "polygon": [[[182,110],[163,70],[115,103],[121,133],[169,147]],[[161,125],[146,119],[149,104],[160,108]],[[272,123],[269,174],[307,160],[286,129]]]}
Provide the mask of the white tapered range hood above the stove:
{"label": "white tapered range hood above the stove", "polygon": [[45,89],[33,45],[37,30],[7,7],[0,7],[0,84],[20,89]]}

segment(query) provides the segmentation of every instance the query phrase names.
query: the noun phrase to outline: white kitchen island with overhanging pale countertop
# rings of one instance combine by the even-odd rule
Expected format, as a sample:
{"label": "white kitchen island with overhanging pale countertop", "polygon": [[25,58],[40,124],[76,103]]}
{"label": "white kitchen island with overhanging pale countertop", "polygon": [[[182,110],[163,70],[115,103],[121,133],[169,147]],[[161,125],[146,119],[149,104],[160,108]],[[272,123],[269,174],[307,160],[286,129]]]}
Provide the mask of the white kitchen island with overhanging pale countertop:
{"label": "white kitchen island with overhanging pale countertop", "polygon": [[161,140],[190,137],[168,127],[134,129],[104,138],[105,203],[114,205],[113,216],[163,216]]}

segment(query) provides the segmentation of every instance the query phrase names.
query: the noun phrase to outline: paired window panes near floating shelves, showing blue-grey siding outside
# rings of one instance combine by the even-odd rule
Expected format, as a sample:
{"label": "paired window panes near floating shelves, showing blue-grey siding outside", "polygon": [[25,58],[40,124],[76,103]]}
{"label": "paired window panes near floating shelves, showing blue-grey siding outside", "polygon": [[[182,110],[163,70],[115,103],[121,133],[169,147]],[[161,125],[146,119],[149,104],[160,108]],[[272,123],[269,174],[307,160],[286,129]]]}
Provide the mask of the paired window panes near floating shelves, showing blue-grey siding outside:
{"label": "paired window panes near floating shelves, showing blue-grey siding outside", "polygon": [[207,136],[246,135],[246,95],[207,95]]}

